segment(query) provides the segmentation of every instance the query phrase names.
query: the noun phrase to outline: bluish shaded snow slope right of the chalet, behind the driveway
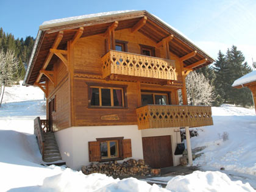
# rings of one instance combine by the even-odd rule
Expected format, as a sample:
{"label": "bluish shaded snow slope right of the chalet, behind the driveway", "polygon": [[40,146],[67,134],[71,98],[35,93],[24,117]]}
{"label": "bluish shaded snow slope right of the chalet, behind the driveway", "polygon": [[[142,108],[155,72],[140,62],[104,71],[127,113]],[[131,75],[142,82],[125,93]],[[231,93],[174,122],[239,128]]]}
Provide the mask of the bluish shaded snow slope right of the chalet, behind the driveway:
{"label": "bluish shaded snow slope right of the chalet, behind the driveway", "polygon": [[[256,175],[256,116],[254,109],[223,105],[212,107],[213,126],[199,129],[191,138],[192,148],[207,146],[194,165]],[[226,132],[229,139],[223,141]]]}

